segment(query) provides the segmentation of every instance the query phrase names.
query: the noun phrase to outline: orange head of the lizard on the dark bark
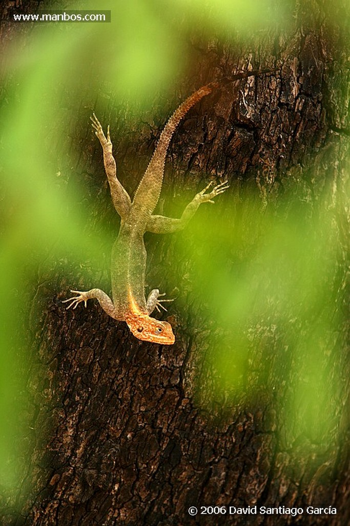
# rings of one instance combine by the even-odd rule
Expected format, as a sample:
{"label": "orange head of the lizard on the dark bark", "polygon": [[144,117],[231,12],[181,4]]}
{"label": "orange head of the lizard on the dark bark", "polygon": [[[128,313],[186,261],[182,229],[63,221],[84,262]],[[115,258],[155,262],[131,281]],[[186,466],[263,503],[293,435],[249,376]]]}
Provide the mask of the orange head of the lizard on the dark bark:
{"label": "orange head of the lizard on the dark bark", "polygon": [[161,345],[173,345],[175,336],[167,321],[159,321],[145,314],[133,315],[125,320],[136,338]]}

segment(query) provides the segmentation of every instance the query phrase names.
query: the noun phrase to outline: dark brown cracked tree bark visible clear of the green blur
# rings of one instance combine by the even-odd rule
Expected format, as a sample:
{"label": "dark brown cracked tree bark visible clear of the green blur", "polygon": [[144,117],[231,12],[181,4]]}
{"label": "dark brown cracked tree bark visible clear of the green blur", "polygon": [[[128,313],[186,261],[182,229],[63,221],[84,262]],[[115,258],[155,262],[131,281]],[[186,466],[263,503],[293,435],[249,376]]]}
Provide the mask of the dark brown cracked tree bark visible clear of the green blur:
{"label": "dark brown cracked tree bark visible clear of the green blur", "polygon": [[[169,111],[193,88],[246,69],[248,57],[254,69],[278,70],[249,82],[226,85],[189,112],[172,141],[165,184],[181,193],[190,173],[197,186],[186,181],[186,187],[191,186],[193,193],[203,186],[199,179],[205,171],[229,178],[232,199],[246,187],[255,187],[262,208],[271,203],[278,206],[283,189],[298,184],[305,195],[311,195],[312,211],[314,200],[332,180],[337,199],[344,199],[349,132],[348,99],[341,79],[345,75],[345,35],[336,22],[325,22],[326,0],[311,4],[307,12],[302,5],[295,7],[294,33],[269,34],[265,41],[259,36],[259,41],[252,41],[239,53],[232,44],[209,45],[204,37],[193,37],[194,73],[182,93],[174,94]],[[99,118],[106,122],[103,115]],[[119,163],[122,180],[128,180],[128,170],[141,176],[162,125],[156,130],[140,125],[131,144],[125,139],[116,147],[117,163],[123,159]],[[121,137],[122,128],[120,117],[114,134]],[[103,183],[99,145],[91,137],[86,140],[88,154],[81,160],[81,173],[86,173],[88,163],[88,170],[98,173],[98,183],[91,183],[87,174],[82,175],[82,186],[86,184],[87,191],[94,192],[101,182],[105,199],[99,201],[98,213],[109,218],[106,210],[111,203]],[[129,179],[126,186],[132,191],[136,184]],[[220,205],[216,206],[218,211]],[[232,218],[232,228],[236,219]],[[345,214],[337,220],[343,256],[348,261]],[[94,221],[96,226],[98,219]],[[199,306],[190,304],[190,285],[184,290],[184,262],[176,260],[174,239],[150,236],[147,242],[149,254],[158,252],[152,258],[149,281],[158,284],[171,266],[177,286],[188,300],[188,318],[177,313],[176,302],[171,307],[173,320],[177,318],[172,348],[136,341],[123,323],[115,323],[93,303],[73,315],[67,313],[60,303],[66,291],[73,283],[82,290],[89,285],[79,282],[73,270],[64,278],[57,269],[51,276],[39,272],[38,283],[45,285],[38,288],[35,301],[41,297],[36,312],[42,311],[32,323],[36,328],[33,349],[39,341],[40,356],[29,371],[36,406],[31,422],[37,430],[31,453],[34,487],[22,518],[10,521],[4,515],[3,523],[126,526],[211,524],[218,520],[220,524],[268,526],[347,524],[349,391],[344,392],[340,409],[344,412],[341,440],[334,440],[332,447],[323,451],[324,460],[317,468],[313,468],[310,449],[307,453],[302,448],[288,449],[277,439],[276,429],[283,424],[277,406],[288,387],[279,389],[278,400],[267,388],[260,392],[258,401],[245,402],[242,397],[230,407],[218,401],[215,409],[203,409],[195,397],[196,382],[201,375],[215,376],[202,365],[208,355],[207,321],[201,319]],[[106,269],[108,264],[106,255]],[[108,284],[106,269],[103,280]],[[97,277],[92,280],[100,283]],[[161,285],[164,288],[166,280]],[[340,359],[346,356],[346,331],[348,327],[340,332],[344,349]],[[260,345],[259,338],[253,340],[250,363],[264,369],[268,386],[274,374],[269,363],[279,355],[281,344],[271,336],[268,357],[261,356]],[[348,371],[345,359],[344,368]],[[273,380],[285,386],[285,378]],[[210,381],[202,385],[201,398],[205,398]],[[38,401],[38,392],[45,392],[46,399]],[[222,418],[217,418],[220,414]],[[187,512],[191,505],[257,503],[303,508],[307,503],[326,503],[336,507],[337,514],[303,514],[298,519],[226,514],[213,519],[208,515],[192,518]]]}

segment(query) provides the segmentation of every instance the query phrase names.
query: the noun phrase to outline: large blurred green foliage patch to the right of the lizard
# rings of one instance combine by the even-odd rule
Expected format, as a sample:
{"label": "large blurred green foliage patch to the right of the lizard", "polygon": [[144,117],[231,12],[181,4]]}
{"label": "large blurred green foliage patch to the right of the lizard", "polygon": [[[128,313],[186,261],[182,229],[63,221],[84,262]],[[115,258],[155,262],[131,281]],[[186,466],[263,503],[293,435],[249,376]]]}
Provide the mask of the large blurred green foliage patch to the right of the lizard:
{"label": "large blurred green foliage patch to the right of the lizard", "polygon": [[331,443],[345,389],[338,338],[345,267],[335,223],[342,212],[327,205],[329,197],[305,206],[295,186],[280,196],[280,213],[246,195],[225,214],[221,197],[195,222],[190,242],[177,241],[182,259],[192,260],[190,279],[208,323],[205,404],[209,377],[213,403],[243,395],[249,404],[265,390],[275,393],[288,447],[298,437]]}

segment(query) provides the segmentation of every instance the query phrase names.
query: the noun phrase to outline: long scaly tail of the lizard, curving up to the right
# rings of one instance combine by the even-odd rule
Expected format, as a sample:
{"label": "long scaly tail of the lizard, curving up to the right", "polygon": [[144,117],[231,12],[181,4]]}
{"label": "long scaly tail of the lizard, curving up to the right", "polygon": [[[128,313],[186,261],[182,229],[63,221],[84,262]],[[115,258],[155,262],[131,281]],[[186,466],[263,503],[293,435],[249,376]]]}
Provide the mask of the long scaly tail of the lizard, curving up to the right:
{"label": "long scaly tail of the lizard, curving up to the right", "polygon": [[147,210],[151,213],[153,212],[161,193],[167,149],[177,125],[198,100],[209,95],[216,87],[218,87],[218,84],[211,83],[199,88],[195,93],[190,95],[169,118],[161,133],[141,183],[136,190],[134,197],[135,204],[146,206]]}

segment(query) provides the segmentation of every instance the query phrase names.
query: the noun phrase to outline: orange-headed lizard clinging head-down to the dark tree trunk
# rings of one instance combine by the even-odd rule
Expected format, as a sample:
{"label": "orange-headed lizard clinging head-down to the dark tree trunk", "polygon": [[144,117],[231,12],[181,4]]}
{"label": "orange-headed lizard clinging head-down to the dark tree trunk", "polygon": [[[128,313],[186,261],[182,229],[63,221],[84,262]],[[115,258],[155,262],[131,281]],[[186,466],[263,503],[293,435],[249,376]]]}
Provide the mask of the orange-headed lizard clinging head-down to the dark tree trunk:
{"label": "orange-headed lizard clinging head-down to the dark tree trunk", "polygon": [[89,299],[96,298],[109,316],[125,321],[136,338],[163,345],[174,343],[175,336],[170,323],[150,316],[154,309],[159,311],[158,307],[166,310],[162,302],[172,300],[160,299],[164,294],[160,294],[158,289],[153,289],[147,299],[145,298],[146,250],[143,237],[147,231],[166,234],[183,229],[194,216],[199,205],[214,203],[213,198],[228,188],[227,181],[224,181],[207,192],[213,184],[213,181],[210,181],[186,206],[181,218],[175,219],[153,214],[160,197],[165,158],[174,131],[188,110],[216,87],[218,87],[216,83],[211,83],[199,88],[169,118],[145,174],[135,191],[133,201],[117,178],[110,126],[107,127],[106,137],[98,118],[94,113],[92,114],[90,119],[94,133],[102,146],[104,169],[110,186],[112,202],[121,218],[119,234],[113,244],[111,254],[112,299],[103,290],[97,288],[87,291],[71,290],[77,296],[63,301],[69,304],[67,310],[71,307],[76,309],[80,302],[84,302],[86,307]]}

